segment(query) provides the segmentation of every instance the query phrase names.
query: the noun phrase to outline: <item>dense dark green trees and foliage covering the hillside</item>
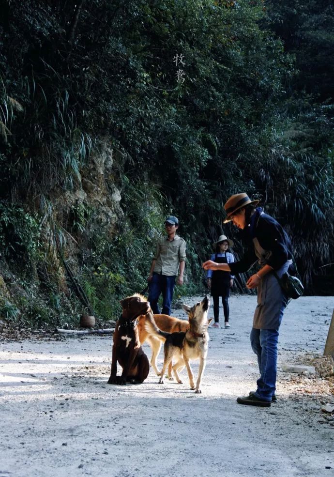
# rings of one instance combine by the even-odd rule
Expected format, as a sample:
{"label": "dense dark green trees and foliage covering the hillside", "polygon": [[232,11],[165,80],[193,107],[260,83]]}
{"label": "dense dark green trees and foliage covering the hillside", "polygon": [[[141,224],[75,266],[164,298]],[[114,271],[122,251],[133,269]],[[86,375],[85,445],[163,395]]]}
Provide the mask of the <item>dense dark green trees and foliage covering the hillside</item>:
{"label": "dense dark green trees and foliage covering the hillside", "polygon": [[[200,282],[222,205],[247,191],[287,227],[309,290],[317,290],[334,245],[331,2],[2,0],[1,10],[7,258],[19,256],[17,242],[30,262],[42,260],[35,222],[48,224],[60,248],[66,231],[82,240],[91,212],[76,208],[64,223],[56,191],[80,190],[91,156],[107,143],[125,215],[111,241],[84,241],[87,269],[117,269],[99,272],[101,282],[87,289],[114,280],[112,293],[121,293],[130,275],[142,285],[165,211],[181,219],[188,275]],[[13,239],[14,222],[30,227],[35,248],[23,232]],[[129,231],[132,252],[121,246]],[[239,244],[230,226],[224,232]],[[139,257],[130,269],[129,253]]]}

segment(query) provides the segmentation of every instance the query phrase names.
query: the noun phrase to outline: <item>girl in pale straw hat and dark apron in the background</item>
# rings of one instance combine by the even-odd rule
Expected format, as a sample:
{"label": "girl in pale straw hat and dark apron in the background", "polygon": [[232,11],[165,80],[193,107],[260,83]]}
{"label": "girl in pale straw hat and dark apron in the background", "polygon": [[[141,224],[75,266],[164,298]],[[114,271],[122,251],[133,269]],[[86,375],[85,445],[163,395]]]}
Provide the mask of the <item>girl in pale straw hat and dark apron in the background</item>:
{"label": "girl in pale straw hat and dark apron in the background", "polygon": [[[234,256],[228,252],[228,247],[232,247],[233,242],[229,240],[226,235],[220,235],[217,242],[213,244],[215,253],[211,256],[211,260],[216,263],[232,263]],[[208,287],[213,297],[213,328],[219,328],[219,297],[222,297],[222,304],[225,318],[225,328],[229,328],[229,290],[233,285],[234,276],[230,272],[223,270],[208,270]]]}

